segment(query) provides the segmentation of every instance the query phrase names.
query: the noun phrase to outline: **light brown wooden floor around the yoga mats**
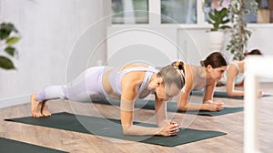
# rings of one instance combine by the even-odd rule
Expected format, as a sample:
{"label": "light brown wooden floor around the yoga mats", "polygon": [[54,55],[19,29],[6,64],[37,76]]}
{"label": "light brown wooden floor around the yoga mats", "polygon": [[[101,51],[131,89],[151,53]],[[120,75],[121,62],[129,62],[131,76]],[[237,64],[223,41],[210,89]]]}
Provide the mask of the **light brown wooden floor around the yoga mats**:
{"label": "light brown wooden floor around the yoga mats", "polygon": [[[273,95],[273,84],[262,84],[262,90],[266,94]],[[217,87],[217,90],[224,90]],[[197,100],[199,97],[192,97]],[[222,98],[227,107],[243,107],[243,100]],[[273,150],[273,97],[260,98],[259,111],[259,142],[263,152]],[[118,118],[119,112],[116,107],[106,105],[94,105],[86,103],[68,102],[66,100],[53,100],[48,102],[52,113],[71,112],[75,114],[105,116]],[[205,140],[180,145],[173,148],[157,145],[144,144],[139,142],[126,141],[115,138],[103,138],[77,132],[71,132],[56,128],[44,128],[38,126],[25,125],[4,121],[10,117],[30,116],[30,104],[15,107],[5,107],[0,109],[0,137],[10,138],[26,143],[31,143],[47,148],[56,148],[67,152],[221,152],[239,153],[243,152],[244,137],[244,112],[227,114],[218,117],[201,117],[168,113],[168,117],[175,117],[175,120],[187,128],[197,128],[206,130],[217,130],[226,132],[227,135],[208,138]],[[96,113],[98,110],[99,113]],[[150,120],[154,123],[154,110],[137,110],[136,121]],[[0,148],[1,152],[1,148]]]}

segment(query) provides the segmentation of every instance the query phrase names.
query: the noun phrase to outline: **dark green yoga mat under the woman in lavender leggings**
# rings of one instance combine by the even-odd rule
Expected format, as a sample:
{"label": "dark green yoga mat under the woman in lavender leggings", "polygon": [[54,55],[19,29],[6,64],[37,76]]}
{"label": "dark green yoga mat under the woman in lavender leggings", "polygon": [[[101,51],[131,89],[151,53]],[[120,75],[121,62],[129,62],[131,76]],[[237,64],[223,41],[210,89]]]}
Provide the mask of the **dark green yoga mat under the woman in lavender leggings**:
{"label": "dark green yoga mat under the woman in lavender leggings", "polygon": [[[120,138],[132,141],[139,141],[148,144],[155,144],[167,147],[174,147],[206,138],[214,138],[226,135],[227,133],[218,131],[198,130],[190,128],[181,128],[177,136],[125,136],[122,132],[120,120],[109,119],[103,117],[87,117],[73,115],[66,112],[53,114],[51,117],[20,117],[5,119],[6,121],[15,121],[25,124],[59,128],[71,130],[86,134],[94,134],[108,138]],[[138,126],[156,127],[153,124],[134,122]],[[83,126],[84,125],[84,126]],[[88,129],[86,129],[88,128]]]}

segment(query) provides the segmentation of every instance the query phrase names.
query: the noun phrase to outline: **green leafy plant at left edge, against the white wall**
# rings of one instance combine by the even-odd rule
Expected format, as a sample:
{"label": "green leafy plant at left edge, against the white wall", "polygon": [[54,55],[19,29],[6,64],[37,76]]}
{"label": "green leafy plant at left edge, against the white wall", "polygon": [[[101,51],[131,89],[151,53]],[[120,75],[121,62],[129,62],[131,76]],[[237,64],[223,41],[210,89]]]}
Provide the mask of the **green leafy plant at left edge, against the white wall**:
{"label": "green leafy plant at left edge, against the white wall", "polygon": [[[15,44],[20,40],[18,31],[11,23],[0,24],[0,46],[3,56],[0,56],[0,68],[15,69],[14,63],[11,58],[17,54]],[[6,55],[6,56],[5,56]]]}

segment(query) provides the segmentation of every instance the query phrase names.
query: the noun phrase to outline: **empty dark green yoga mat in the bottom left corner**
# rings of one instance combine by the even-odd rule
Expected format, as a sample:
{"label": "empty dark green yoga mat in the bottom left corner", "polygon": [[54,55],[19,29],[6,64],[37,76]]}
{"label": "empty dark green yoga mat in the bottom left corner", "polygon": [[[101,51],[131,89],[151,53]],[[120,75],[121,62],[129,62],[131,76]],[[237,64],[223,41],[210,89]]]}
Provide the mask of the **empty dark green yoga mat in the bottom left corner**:
{"label": "empty dark green yoga mat in the bottom left corner", "polygon": [[36,145],[28,144],[25,142],[8,139],[8,138],[0,138],[0,152],[3,152],[3,153],[19,153],[19,152],[62,153],[65,151],[36,146]]}

